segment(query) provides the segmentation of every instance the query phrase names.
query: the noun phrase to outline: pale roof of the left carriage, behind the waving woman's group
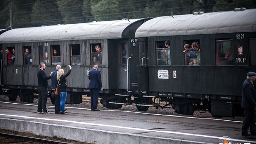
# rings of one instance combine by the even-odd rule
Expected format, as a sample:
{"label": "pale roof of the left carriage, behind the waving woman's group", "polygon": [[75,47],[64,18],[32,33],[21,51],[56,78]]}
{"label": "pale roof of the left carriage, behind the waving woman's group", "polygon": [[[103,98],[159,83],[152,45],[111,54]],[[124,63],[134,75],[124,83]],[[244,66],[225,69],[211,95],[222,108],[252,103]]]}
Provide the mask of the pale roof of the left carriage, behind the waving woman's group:
{"label": "pale roof of the left carriage, behind the waving woman's group", "polygon": [[146,18],[15,28],[1,34],[0,43],[126,38],[125,29],[144,19]]}

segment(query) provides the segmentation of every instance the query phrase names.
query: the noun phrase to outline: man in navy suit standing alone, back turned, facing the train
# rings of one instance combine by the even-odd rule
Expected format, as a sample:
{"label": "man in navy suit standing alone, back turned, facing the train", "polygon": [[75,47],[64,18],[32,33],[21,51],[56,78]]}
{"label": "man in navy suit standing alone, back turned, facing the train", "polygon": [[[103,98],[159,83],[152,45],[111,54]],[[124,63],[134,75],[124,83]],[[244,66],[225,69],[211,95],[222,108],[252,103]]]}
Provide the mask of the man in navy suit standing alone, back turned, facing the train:
{"label": "man in navy suit standing alone, back turned, facing the train", "polygon": [[98,65],[93,66],[93,70],[89,72],[89,89],[91,90],[91,110],[98,111],[98,99],[100,90],[103,91],[102,82],[101,82],[101,72],[98,71]]}

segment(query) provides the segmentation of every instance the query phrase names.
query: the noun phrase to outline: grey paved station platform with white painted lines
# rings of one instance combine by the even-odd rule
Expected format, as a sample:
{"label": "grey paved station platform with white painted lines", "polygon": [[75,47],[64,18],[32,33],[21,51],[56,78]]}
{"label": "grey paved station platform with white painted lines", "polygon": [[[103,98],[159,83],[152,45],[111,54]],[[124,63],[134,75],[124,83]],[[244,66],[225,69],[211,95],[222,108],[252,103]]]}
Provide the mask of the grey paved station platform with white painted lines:
{"label": "grey paved station platform with white painted lines", "polygon": [[37,114],[37,105],[0,101],[0,128],[95,144],[256,144],[241,136],[241,121],[136,111],[67,108],[68,115]]}

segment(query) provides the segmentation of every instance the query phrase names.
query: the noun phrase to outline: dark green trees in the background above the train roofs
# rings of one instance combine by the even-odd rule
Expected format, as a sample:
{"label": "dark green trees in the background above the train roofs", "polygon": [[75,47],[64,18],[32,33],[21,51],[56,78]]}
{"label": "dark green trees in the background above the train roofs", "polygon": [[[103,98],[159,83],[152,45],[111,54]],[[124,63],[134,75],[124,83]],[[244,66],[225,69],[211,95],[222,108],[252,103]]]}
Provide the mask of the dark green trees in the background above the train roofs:
{"label": "dark green trees in the background above the train roofs", "polygon": [[[13,28],[256,8],[256,0],[12,0]],[[0,29],[9,0],[0,0]]]}

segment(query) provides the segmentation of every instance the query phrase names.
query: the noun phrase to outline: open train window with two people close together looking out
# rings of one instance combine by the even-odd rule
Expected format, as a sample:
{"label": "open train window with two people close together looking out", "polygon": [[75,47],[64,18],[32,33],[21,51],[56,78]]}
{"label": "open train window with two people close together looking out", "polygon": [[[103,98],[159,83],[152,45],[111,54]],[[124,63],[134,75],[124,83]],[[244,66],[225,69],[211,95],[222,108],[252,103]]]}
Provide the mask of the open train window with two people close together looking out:
{"label": "open train window with two people close together looking out", "polygon": [[200,40],[184,40],[184,64],[185,65],[201,65],[200,56]]}

